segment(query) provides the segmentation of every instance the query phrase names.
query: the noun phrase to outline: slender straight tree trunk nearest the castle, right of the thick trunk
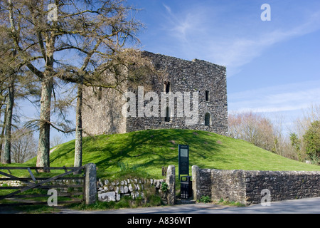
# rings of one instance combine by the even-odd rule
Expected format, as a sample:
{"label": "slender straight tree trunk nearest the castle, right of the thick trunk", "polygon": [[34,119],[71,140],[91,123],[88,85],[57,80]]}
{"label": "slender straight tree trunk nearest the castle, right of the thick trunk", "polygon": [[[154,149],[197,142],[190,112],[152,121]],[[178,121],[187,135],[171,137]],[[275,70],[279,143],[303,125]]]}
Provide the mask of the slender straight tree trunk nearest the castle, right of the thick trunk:
{"label": "slender straight tree trunk nearest the castle, right of the thick trunk", "polygon": [[82,81],[78,84],[77,107],[75,110],[75,167],[82,165]]}

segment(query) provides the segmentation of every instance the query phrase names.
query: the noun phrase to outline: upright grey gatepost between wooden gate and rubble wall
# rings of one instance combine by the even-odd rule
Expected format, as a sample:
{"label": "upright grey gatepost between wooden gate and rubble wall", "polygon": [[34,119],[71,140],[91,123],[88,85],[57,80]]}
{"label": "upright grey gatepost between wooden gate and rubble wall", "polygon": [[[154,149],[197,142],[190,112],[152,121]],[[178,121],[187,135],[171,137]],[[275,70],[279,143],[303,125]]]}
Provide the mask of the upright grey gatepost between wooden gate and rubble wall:
{"label": "upright grey gatepost between wooden gate and rubble wall", "polygon": [[97,201],[97,169],[94,163],[85,165],[85,204]]}

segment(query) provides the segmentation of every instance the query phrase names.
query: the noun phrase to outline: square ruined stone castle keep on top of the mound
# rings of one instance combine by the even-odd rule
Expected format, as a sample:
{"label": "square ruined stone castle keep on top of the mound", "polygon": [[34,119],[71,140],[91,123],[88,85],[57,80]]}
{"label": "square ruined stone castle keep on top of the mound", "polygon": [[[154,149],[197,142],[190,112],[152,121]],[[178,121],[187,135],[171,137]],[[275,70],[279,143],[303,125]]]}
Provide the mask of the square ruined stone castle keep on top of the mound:
{"label": "square ruined stone castle keep on top of the mound", "polygon": [[[146,51],[143,52],[143,55],[151,59],[156,70],[163,71],[166,74],[166,78],[161,79],[150,76],[151,91],[158,94],[159,98],[159,115],[151,117],[141,115],[141,113],[138,115],[138,97],[139,93],[141,93],[141,90],[138,90],[138,86],[137,88],[124,89],[137,94],[137,107],[133,107],[136,108],[137,115],[130,116],[122,115],[122,109],[127,100],[122,99],[122,94],[117,90],[99,88],[99,93],[93,93],[92,88],[86,88],[84,90],[84,99],[87,105],[83,105],[82,109],[82,128],[85,133],[101,135],[164,128],[206,130],[220,135],[225,135],[228,132],[225,66],[218,66],[214,63],[197,59],[186,61]],[[169,108],[168,105],[168,107],[162,107],[164,110],[161,110],[160,107],[161,94],[188,94],[185,92],[191,94],[190,110],[192,110],[191,113],[193,115],[195,113],[197,115],[192,117],[193,120],[196,119],[196,122],[192,124],[187,124],[188,118],[186,115],[181,116],[178,114],[177,98],[175,99],[174,107],[170,106]],[[144,91],[145,94],[146,91]],[[193,103],[193,101],[196,101],[196,95],[198,95],[198,108]],[[145,97],[144,99],[144,107],[146,107],[148,101],[151,102],[152,99],[149,98],[147,100]],[[185,106],[186,96],[183,97],[183,100],[183,105]],[[193,108],[197,108],[197,110]]]}

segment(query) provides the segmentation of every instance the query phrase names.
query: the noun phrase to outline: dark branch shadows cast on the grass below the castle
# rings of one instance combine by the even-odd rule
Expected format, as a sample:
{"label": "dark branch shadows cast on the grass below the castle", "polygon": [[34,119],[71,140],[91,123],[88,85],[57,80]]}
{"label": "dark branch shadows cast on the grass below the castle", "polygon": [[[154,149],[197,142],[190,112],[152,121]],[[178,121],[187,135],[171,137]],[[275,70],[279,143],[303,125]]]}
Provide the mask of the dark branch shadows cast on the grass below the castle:
{"label": "dark branch shadows cast on the grass below the castle", "polygon": [[[107,138],[107,140],[106,140]],[[196,130],[143,130],[117,137],[107,136],[84,143],[85,153],[102,170],[116,167],[120,161],[143,164],[144,167],[178,165],[178,144],[189,145],[190,162],[205,165],[225,145],[216,142],[214,134]],[[94,153],[92,153],[94,152]],[[222,162],[228,162],[223,159]]]}

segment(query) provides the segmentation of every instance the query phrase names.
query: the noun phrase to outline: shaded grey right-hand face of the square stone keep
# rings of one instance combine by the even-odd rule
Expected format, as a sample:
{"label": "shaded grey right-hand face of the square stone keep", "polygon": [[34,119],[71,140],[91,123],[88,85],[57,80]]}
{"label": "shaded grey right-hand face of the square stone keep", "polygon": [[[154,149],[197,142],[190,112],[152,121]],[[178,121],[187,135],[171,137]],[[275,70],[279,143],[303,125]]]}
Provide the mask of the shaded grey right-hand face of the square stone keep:
{"label": "shaded grey right-hand face of the square stone keep", "polygon": [[[164,81],[169,81],[171,93],[198,92],[198,123],[186,125],[185,115],[177,117],[177,101],[174,105],[174,117],[169,122],[164,121],[159,107],[159,117],[152,118],[127,118],[127,132],[146,129],[192,129],[207,130],[225,135],[228,132],[228,101],[226,68],[207,61],[186,61],[180,58],[164,56],[161,54],[144,52],[155,68],[164,71]],[[161,92],[164,92],[164,81],[158,78],[151,80],[155,92],[158,93],[159,105],[161,104]],[[209,91],[209,100],[206,101],[206,90]],[[193,96],[191,95],[191,107]],[[210,113],[210,125],[205,125],[205,115]]]}

